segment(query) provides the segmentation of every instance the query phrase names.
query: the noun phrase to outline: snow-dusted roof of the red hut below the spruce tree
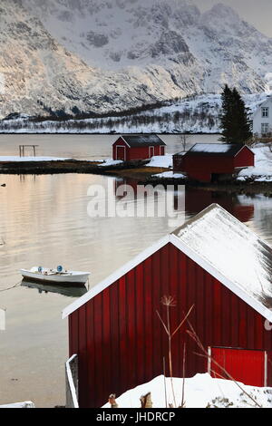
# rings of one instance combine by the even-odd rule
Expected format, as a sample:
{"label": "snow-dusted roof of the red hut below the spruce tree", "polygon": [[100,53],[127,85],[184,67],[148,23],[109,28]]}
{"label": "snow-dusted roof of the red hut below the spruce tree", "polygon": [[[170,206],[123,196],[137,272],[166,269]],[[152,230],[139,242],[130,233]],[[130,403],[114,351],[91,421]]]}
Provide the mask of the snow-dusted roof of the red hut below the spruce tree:
{"label": "snow-dusted roof of the red hut below the spruce tree", "polygon": [[196,143],[185,154],[184,152],[179,152],[175,155],[222,155],[234,157],[236,154],[238,154],[239,150],[245,146],[246,145],[243,145],[242,143]]}

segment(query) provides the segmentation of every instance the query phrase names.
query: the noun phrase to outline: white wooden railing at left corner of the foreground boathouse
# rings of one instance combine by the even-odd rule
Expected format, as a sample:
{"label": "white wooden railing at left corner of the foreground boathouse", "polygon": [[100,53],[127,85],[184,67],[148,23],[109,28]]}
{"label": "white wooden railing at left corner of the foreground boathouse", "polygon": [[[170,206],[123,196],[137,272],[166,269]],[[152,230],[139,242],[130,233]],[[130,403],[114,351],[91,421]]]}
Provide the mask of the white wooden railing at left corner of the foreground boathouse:
{"label": "white wooden railing at left corner of the foreground boathouse", "polygon": [[78,356],[74,354],[65,363],[66,408],[79,408],[78,404]]}

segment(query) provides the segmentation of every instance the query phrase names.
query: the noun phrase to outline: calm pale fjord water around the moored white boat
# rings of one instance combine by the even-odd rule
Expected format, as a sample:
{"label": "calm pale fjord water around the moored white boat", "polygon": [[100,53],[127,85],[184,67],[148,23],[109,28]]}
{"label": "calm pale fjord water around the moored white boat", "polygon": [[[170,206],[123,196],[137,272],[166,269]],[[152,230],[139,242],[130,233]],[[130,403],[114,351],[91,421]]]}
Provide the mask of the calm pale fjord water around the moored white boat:
{"label": "calm pale fjord water around the moored white boat", "polygon": [[[102,159],[111,157],[115,139],[114,135],[2,135],[0,155],[16,155],[19,144],[36,143],[37,155]],[[168,152],[181,150],[177,136],[162,139]],[[189,143],[217,139],[194,136]],[[6,330],[0,331],[0,404],[32,400],[38,407],[62,405],[68,333],[61,313],[75,294],[20,286],[18,270],[39,265],[87,270],[94,286],[173,228],[168,218],[88,216],[90,186],[101,185],[105,194],[110,191],[115,197],[120,179],[88,174],[0,175],[2,183],[6,187],[0,187],[0,308],[6,309]],[[133,205],[138,202],[130,199]],[[272,245],[272,198],[190,190],[178,218],[189,218],[211,202],[227,208]]]}

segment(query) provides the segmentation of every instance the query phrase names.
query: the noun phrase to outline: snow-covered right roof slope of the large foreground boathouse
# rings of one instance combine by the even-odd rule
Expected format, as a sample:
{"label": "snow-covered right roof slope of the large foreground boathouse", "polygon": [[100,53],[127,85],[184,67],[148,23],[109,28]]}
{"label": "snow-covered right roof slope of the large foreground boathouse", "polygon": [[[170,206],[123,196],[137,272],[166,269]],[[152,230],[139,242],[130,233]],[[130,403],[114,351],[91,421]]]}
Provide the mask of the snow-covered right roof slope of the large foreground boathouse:
{"label": "snow-covered right roof slope of the large foreground boathouse", "polygon": [[173,235],[229,282],[272,308],[272,248],[224,208],[209,206]]}

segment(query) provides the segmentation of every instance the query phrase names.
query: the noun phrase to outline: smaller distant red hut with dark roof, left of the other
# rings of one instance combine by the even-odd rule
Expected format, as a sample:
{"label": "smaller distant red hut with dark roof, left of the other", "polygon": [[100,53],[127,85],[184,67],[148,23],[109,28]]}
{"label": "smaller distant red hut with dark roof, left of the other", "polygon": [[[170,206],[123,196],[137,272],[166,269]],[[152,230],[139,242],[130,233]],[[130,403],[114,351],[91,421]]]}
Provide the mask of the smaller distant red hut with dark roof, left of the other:
{"label": "smaller distant red hut with dark roof, left of the other", "polygon": [[112,159],[131,161],[164,155],[166,144],[154,134],[121,135],[112,145]]}

